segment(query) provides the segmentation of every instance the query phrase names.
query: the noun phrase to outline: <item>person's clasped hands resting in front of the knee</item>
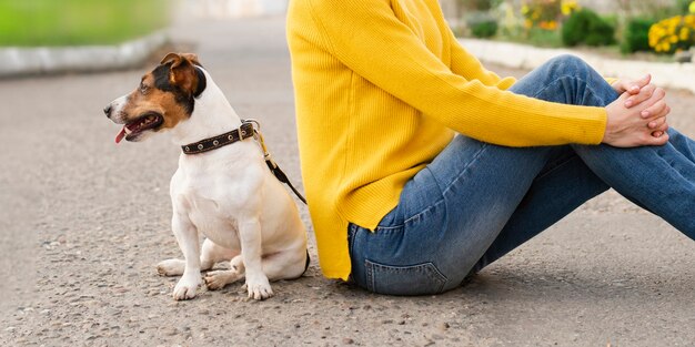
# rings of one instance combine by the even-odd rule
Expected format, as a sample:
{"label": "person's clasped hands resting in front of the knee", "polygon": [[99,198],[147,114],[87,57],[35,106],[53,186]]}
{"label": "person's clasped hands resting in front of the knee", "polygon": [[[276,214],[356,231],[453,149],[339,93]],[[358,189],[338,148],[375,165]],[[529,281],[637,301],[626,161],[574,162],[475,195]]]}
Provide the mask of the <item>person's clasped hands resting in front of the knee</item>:
{"label": "person's clasped hands resting in front of the knee", "polygon": [[[649,96],[639,103],[626,106],[627,100],[639,95],[643,90]],[[623,93],[606,106],[608,119],[603,143],[617,147],[634,147],[663,145],[668,142],[666,115],[671,112],[671,108],[666,104],[665,96],[666,92],[661,88],[654,88],[653,92],[642,88],[637,94]]]}

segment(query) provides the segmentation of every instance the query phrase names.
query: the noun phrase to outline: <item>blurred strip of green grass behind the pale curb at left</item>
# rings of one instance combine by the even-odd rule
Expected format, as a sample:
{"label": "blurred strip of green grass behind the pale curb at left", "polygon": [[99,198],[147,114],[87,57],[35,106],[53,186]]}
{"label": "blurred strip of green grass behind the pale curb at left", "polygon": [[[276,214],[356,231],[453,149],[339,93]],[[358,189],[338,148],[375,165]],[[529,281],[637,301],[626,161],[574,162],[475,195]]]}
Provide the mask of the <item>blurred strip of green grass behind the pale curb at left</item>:
{"label": "blurred strip of green grass behind the pale curb at left", "polygon": [[0,45],[93,45],[169,24],[171,0],[0,0]]}

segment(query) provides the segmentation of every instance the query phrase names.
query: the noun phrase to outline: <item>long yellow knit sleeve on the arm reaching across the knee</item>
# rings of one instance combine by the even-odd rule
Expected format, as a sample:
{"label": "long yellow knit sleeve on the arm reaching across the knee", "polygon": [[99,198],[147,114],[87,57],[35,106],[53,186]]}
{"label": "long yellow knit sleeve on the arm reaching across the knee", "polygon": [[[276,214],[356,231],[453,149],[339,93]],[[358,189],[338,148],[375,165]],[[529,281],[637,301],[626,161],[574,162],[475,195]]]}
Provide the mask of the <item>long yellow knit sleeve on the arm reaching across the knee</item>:
{"label": "long yellow knit sleeve on the arm reaching across the knee", "polygon": [[[456,74],[395,17],[387,0],[306,1],[326,50],[444,126],[508,146],[597,144],[603,139],[605,109],[544,102],[486,85],[481,79],[498,76],[483,75],[477,60],[457,62],[462,73]],[[472,64],[472,74],[463,71],[465,64]]]}

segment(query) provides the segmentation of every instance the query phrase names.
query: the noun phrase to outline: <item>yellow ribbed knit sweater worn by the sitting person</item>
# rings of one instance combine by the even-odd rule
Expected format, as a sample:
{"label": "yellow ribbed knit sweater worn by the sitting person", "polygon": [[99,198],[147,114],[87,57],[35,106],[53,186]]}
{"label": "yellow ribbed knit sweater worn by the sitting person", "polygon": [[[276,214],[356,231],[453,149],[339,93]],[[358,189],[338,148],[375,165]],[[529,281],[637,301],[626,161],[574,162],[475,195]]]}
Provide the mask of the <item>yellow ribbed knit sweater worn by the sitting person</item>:
{"label": "yellow ribbed knit sweater worn by the sitting person", "polygon": [[606,113],[505,91],[463,49],[437,0],[292,0],[302,177],[323,274],[350,275],[348,224],[373,229],[451,142],[597,144]]}

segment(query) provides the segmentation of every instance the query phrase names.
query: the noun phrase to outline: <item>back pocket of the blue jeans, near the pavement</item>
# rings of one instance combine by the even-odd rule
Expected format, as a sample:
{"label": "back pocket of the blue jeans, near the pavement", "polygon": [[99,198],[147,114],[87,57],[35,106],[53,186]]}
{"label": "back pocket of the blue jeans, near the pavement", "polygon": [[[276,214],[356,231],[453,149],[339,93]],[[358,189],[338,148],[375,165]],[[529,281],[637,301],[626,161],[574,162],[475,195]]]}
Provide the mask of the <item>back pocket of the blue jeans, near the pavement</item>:
{"label": "back pocket of the blue jeans, near the pavement", "polygon": [[391,266],[365,261],[367,290],[387,295],[440,294],[446,277],[432,263]]}

